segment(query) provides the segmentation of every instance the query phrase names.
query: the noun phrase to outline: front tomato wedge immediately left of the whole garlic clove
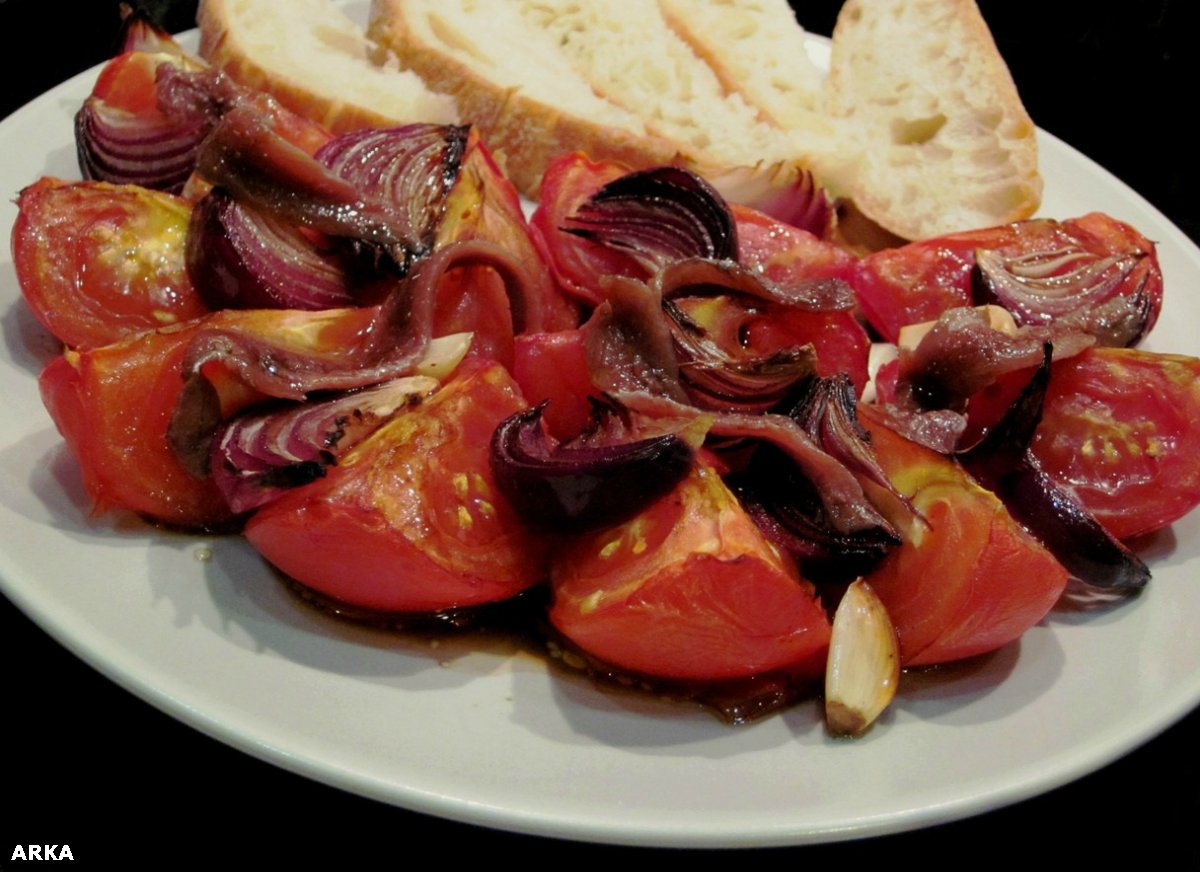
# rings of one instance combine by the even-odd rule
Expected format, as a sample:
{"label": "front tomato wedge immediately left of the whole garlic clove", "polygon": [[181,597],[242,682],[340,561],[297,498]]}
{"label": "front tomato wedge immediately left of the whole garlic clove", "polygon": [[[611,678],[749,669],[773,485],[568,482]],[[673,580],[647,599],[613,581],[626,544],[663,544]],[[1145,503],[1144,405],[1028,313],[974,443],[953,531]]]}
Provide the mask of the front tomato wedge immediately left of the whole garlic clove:
{"label": "front tomato wedge immediately left of the whole garlic clove", "polygon": [[677,680],[811,668],[829,623],[808,582],[697,468],[636,518],[554,557],[550,620],[620,669]]}

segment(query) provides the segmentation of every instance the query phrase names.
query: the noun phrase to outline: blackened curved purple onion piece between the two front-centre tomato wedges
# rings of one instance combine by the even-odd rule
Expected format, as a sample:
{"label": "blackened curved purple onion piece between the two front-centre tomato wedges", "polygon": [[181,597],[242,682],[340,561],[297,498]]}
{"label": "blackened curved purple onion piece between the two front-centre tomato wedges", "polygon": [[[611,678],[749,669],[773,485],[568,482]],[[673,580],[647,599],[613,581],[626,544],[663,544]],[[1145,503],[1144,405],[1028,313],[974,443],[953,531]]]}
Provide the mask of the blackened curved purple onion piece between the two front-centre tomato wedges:
{"label": "blackened curved purple onion piece between the two front-centre tomato wedges", "polygon": [[668,493],[691,469],[691,447],[683,438],[625,441],[625,428],[610,425],[619,420],[617,410],[605,405],[594,413],[589,433],[552,446],[541,426],[544,408],[505,419],[492,437],[496,482],[533,525],[580,533],[619,523]]}

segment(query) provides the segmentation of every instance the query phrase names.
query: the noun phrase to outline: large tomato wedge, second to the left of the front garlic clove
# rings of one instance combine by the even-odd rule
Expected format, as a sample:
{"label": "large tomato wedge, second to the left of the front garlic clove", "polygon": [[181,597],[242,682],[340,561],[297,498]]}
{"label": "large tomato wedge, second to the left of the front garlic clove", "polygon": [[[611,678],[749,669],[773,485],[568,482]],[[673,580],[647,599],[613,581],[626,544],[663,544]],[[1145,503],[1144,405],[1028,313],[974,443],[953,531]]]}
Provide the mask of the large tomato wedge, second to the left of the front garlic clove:
{"label": "large tomato wedge, second to the left of the front garlic clove", "polygon": [[503,367],[468,362],[324,479],[264,506],[246,536],[341,602],[385,613],[503,600],[545,578],[546,543],[496,487],[492,432],[526,403]]}

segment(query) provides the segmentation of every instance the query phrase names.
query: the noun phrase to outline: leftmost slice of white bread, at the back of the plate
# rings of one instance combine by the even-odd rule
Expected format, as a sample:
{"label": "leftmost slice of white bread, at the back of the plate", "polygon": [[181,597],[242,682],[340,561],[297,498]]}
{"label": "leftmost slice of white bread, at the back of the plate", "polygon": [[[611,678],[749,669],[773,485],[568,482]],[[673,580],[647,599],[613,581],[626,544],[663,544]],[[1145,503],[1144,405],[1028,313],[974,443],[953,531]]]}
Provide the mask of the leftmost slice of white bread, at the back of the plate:
{"label": "leftmost slice of white bread, at the back of the plate", "polygon": [[420,77],[379,67],[362,28],[330,0],[202,0],[200,55],[335,133],[457,121]]}

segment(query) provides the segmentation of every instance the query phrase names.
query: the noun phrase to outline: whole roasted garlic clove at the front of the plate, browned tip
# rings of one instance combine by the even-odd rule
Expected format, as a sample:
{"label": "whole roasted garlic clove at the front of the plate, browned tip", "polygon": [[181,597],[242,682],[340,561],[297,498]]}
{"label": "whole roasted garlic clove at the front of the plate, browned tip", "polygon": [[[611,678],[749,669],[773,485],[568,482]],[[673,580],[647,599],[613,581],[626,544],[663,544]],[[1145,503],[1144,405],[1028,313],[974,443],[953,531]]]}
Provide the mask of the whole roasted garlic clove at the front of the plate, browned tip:
{"label": "whole roasted garlic clove at the front of the plate, browned tip", "polygon": [[826,664],[826,722],[832,733],[857,735],[888,708],[900,681],[899,648],[887,609],[859,578],[833,618]]}

